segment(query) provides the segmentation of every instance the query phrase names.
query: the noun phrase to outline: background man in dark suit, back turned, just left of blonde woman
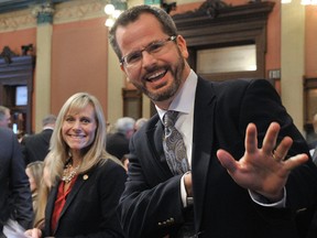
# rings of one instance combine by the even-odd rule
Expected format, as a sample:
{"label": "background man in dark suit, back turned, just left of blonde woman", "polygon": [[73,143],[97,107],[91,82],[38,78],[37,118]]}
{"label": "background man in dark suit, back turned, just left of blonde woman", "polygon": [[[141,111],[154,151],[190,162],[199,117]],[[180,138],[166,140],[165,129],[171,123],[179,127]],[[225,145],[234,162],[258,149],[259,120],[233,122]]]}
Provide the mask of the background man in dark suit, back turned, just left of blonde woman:
{"label": "background man in dark suit, back turned, just left of blonde woman", "polygon": [[22,139],[22,153],[25,165],[34,161],[44,161],[50,149],[50,140],[55,127],[56,116],[48,115],[42,120],[43,130],[40,133]]}

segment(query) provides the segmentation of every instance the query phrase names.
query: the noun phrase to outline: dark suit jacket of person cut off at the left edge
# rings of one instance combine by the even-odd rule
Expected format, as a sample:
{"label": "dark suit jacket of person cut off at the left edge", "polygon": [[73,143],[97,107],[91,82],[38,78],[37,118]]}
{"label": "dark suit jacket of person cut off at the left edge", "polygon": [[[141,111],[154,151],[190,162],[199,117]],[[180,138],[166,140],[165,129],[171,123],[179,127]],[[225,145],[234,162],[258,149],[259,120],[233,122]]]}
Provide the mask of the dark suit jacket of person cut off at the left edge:
{"label": "dark suit jacket of person cut off at the left edge", "polygon": [[17,220],[23,228],[32,225],[33,208],[29,178],[24,171],[17,136],[0,128],[0,237],[8,219]]}

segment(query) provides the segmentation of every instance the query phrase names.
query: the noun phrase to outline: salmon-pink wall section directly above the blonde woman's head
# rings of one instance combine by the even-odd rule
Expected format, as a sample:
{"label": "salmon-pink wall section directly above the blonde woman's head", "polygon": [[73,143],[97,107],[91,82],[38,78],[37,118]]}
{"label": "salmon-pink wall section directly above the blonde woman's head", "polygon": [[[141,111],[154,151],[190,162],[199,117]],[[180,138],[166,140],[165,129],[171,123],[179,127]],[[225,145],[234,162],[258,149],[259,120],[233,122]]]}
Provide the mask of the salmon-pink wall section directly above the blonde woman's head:
{"label": "salmon-pink wall section directly above the blonde woman's head", "polygon": [[105,20],[54,25],[51,82],[54,113],[69,96],[87,91],[100,100],[107,115],[108,30]]}

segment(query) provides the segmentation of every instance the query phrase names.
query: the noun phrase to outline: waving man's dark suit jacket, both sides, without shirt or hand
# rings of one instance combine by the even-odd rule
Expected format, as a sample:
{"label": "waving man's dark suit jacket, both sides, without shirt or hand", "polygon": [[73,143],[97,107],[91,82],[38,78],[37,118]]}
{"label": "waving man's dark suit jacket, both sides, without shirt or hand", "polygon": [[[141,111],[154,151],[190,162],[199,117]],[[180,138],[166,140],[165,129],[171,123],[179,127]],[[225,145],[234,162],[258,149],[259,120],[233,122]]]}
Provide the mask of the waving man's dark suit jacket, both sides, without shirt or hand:
{"label": "waving man's dark suit jacket, both sides, without shirt or hand", "polygon": [[[308,153],[307,144],[267,80],[211,83],[198,78],[193,131],[194,219],[197,237],[293,238],[294,215],[316,199],[317,169],[311,163],[294,170],[286,185],[286,208],[255,204],[219,163],[218,149],[240,159],[245,128],[254,122],[261,147],[272,121],[291,136],[288,155]],[[118,212],[127,237],[174,237],[184,223],[181,175],[173,176],[162,148],[163,126],[155,115],[130,143],[128,182]]]}

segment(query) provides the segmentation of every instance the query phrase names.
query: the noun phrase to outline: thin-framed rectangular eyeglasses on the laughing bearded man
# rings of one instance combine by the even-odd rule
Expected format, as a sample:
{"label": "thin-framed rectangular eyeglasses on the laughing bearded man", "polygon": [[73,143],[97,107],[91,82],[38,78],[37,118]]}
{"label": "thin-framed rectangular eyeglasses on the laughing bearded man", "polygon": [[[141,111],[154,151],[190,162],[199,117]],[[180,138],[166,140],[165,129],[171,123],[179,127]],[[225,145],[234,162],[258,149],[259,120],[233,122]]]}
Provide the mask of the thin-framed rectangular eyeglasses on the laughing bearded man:
{"label": "thin-framed rectangular eyeglasses on the laughing bearded man", "polygon": [[170,41],[174,41],[176,39],[175,35],[170,36],[168,39],[162,40],[162,41],[155,41],[150,43],[147,46],[145,46],[143,50],[131,52],[130,54],[123,56],[120,60],[120,65],[123,65],[128,68],[136,67],[140,65],[142,61],[142,52],[146,51],[152,56],[160,56],[166,53],[166,48],[164,47],[165,44]]}

